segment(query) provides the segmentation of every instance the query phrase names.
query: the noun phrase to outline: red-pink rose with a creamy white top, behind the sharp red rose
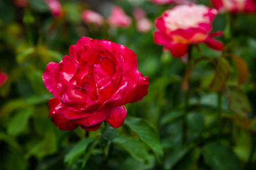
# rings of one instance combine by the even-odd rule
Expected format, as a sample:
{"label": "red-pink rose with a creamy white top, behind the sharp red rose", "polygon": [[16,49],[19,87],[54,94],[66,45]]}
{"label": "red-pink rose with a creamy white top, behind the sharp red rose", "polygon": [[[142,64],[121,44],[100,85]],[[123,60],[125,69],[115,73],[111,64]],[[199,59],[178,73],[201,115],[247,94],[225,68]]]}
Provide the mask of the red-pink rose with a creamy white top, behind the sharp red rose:
{"label": "red-pink rose with a creamy white top, behind the sharp red rose", "polygon": [[221,32],[209,33],[217,10],[203,5],[179,5],[167,10],[156,19],[158,31],[154,32],[156,44],[164,45],[174,57],[184,56],[190,44],[204,42],[210,48],[221,50],[222,44],[212,37]]}

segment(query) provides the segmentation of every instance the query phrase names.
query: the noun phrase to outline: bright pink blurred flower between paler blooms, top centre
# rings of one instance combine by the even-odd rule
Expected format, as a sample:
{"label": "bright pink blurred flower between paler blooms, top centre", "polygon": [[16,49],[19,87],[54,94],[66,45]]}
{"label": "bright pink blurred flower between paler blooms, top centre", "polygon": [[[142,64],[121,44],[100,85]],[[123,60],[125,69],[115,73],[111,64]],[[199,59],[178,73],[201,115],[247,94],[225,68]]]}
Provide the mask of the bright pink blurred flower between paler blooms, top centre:
{"label": "bright pink blurred flower between paler blooms, top centre", "polygon": [[131,18],[125,14],[121,7],[115,6],[112,8],[108,23],[110,27],[127,28],[131,24]]}

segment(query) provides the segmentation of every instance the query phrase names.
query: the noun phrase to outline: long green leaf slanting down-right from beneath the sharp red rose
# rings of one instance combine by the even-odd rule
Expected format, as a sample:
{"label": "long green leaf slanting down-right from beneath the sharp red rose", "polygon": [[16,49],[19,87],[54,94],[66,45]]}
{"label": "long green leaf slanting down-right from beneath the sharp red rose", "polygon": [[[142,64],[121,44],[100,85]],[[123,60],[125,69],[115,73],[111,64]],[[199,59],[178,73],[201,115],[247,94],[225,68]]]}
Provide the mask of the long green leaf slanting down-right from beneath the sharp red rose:
{"label": "long green leaf slanting down-right from beneath the sharp red rose", "polygon": [[127,117],[125,119],[125,124],[129,126],[136,134],[139,135],[139,138],[146,143],[155,153],[158,162],[163,156],[162,146],[159,141],[158,131],[149,124],[148,122],[142,120],[141,118]]}

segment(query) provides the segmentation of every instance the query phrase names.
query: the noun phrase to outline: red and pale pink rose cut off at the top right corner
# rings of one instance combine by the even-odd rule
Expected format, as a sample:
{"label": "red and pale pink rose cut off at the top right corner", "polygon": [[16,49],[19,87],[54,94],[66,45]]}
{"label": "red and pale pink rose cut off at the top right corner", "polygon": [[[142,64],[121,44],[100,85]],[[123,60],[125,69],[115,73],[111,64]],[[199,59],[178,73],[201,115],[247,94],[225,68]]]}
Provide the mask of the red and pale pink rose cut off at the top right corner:
{"label": "red and pale pink rose cut off at the top right corner", "polygon": [[212,4],[222,12],[256,12],[255,0],[212,0]]}

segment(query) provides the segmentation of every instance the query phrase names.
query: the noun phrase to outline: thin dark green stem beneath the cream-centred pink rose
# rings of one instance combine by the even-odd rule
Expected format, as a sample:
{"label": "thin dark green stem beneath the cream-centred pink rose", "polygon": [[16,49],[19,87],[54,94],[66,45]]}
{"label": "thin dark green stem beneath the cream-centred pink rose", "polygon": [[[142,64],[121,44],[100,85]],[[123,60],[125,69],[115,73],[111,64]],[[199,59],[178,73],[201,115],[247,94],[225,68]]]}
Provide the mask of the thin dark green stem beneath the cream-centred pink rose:
{"label": "thin dark green stem beneath the cream-centred pink rose", "polygon": [[[186,66],[186,70],[189,69],[192,62],[192,45],[189,46],[188,50],[188,63]],[[191,88],[189,87],[188,90],[185,92],[185,101],[184,101],[184,116],[183,116],[183,144],[187,141],[187,134],[188,134],[188,125],[187,125],[187,114],[189,111],[189,98],[191,95]]]}

